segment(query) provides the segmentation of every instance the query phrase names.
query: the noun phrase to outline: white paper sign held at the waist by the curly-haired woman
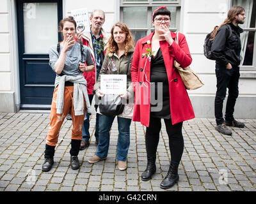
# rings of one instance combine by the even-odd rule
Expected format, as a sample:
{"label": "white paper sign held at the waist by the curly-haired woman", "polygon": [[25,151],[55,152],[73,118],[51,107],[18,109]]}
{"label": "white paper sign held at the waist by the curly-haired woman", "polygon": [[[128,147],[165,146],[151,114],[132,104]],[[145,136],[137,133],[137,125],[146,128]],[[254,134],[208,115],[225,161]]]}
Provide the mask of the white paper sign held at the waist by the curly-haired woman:
{"label": "white paper sign held at the waist by the curly-haired woman", "polygon": [[125,94],[127,75],[100,75],[100,91],[104,94]]}

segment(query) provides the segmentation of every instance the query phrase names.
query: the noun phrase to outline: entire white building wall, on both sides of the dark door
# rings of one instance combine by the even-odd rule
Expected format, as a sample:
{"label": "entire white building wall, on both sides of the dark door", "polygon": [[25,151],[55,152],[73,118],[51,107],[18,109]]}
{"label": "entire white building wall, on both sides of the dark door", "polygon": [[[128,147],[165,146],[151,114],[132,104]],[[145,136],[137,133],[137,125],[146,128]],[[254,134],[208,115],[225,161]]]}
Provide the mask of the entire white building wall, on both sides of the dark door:
{"label": "entire white building wall, on both sides of the dark door", "polygon": [[[15,0],[0,1],[0,112],[16,112],[20,103],[15,2]],[[215,62],[204,57],[203,45],[205,35],[212,31],[214,25],[220,25],[227,17],[230,0],[182,0],[181,2],[180,32],[186,35],[193,57],[191,68],[198,73],[205,84],[198,90],[189,91],[189,96],[196,117],[214,118]],[[70,15],[71,10],[79,8],[87,8],[89,13],[95,9],[104,10],[106,22],[103,27],[109,32],[119,19],[118,5],[119,0],[63,0],[63,17]],[[255,78],[250,76],[252,76],[250,73],[241,71],[239,98],[235,107],[237,119],[256,118]]]}

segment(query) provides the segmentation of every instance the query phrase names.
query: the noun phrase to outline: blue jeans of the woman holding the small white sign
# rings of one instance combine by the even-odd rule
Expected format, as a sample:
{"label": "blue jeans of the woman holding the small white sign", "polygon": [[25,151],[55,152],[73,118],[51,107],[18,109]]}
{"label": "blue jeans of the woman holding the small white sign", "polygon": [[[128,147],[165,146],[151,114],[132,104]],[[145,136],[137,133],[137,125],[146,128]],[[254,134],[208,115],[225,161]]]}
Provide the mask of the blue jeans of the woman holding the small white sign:
{"label": "blue jeans of the woman holding the small white sign", "polygon": [[[109,131],[113,124],[115,116],[99,115],[99,145],[96,155],[104,158],[108,156],[109,149]],[[118,161],[126,161],[128,149],[130,146],[130,125],[132,119],[117,117],[118,122],[118,142],[117,157]]]}

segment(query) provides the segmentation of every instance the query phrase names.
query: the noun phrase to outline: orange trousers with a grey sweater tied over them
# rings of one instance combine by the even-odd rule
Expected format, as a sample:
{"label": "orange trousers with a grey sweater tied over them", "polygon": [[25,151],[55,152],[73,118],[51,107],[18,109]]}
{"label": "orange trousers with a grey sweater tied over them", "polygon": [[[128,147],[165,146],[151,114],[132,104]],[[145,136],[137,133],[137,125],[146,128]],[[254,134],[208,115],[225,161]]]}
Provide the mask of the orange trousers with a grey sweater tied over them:
{"label": "orange trousers with a grey sweater tied over them", "polygon": [[56,144],[58,143],[60,128],[68,113],[71,113],[72,115],[73,128],[71,133],[71,139],[82,140],[83,138],[82,129],[83,129],[84,114],[86,112],[85,100],[84,100],[84,114],[75,115],[74,105],[73,105],[74,86],[65,86],[63,111],[62,111],[62,114],[57,114],[56,113],[57,92],[58,92],[58,87],[56,87],[52,96],[50,127],[46,137],[46,143],[47,145],[50,145],[50,146],[56,146]]}

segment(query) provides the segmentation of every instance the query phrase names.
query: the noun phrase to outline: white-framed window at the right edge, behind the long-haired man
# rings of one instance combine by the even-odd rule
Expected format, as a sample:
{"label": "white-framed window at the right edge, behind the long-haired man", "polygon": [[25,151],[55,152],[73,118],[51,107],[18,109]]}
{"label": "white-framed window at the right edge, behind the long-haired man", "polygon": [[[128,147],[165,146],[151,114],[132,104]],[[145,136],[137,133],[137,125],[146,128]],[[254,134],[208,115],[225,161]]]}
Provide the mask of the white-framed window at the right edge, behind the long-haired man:
{"label": "white-framed window at the right edge, behind the long-haired man", "polygon": [[256,68],[256,1],[233,0],[233,6],[243,6],[245,10],[244,24],[239,24],[244,33],[241,34],[241,69],[255,71]]}

